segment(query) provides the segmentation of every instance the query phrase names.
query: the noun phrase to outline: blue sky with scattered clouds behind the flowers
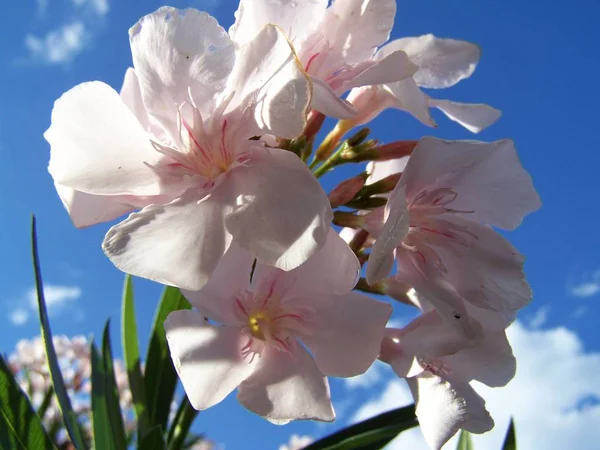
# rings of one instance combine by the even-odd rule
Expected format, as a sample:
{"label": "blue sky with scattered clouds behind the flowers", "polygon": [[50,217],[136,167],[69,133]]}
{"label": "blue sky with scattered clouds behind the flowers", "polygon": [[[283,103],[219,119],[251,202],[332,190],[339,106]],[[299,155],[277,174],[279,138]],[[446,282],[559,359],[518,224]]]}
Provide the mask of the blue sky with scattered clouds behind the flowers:
{"label": "blue sky with scattered clouds behind the flowers", "polygon": [[[54,100],[67,89],[89,80],[120,87],[131,64],[127,30],[161,5],[24,0],[12,2],[0,17],[2,352],[38,333],[28,300],[32,212],[38,217],[45,281],[54,286],[55,333],[98,336],[111,317],[113,342],[120,341],[115,325],[123,275],[100,248],[110,224],[85,230],[71,225],[47,172],[49,146],[42,133]],[[235,2],[218,0],[171,5],[208,10],[226,28],[236,8]],[[482,47],[474,76],[443,95],[503,111],[500,121],[477,138],[513,138],[542,197],[542,209],[509,234],[527,257],[535,299],[510,330],[520,358],[517,378],[506,390],[489,393],[488,402],[498,428],[504,428],[510,412],[516,415],[525,449],[562,448],[562,442],[591,449],[600,438],[600,429],[593,426],[600,423],[600,390],[591,382],[600,373],[599,14],[600,6],[592,0],[580,0],[576,8],[564,0],[404,0],[392,36],[434,33]],[[473,138],[441,115],[435,118],[439,128],[432,130],[406,114],[387,112],[372,124],[373,135],[383,141],[423,135]],[[325,184],[331,187],[339,180],[330,175]],[[136,291],[143,337],[160,288],[136,280]],[[333,425],[276,427],[243,410],[232,396],[202,413],[196,428],[227,448],[277,448],[292,433],[318,436],[409,401],[406,388],[380,366],[360,380],[332,382],[332,391],[339,416]],[[500,434],[502,430],[484,437],[478,448],[498,448]],[[423,444],[414,432],[396,445],[418,449]]]}

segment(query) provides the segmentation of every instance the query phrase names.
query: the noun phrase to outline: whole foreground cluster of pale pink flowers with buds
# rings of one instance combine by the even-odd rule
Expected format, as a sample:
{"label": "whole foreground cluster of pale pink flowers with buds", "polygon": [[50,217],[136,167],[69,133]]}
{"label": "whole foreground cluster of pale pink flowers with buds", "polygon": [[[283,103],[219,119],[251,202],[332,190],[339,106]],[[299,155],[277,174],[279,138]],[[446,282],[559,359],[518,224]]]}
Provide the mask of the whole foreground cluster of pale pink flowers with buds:
{"label": "whole foreground cluster of pale pink flowers with buds", "polygon": [[[56,101],[49,170],[75,226],[129,213],[106,234],[108,258],[195,308],[165,330],[196,409],[237,389],[274,423],[332,421],[327,377],[379,358],[408,381],[431,447],[492,428],[469,383],[513,377],[504,330],[531,299],[523,257],[492,227],[516,228],[540,201],[509,140],[343,140],[387,108],[429,126],[438,108],[475,133],[500,115],[421,91],[470,77],[480,50],[388,42],[395,12],[395,0],[241,0],[227,32],[163,7],[130,29],[120,93],[96,81]],[[308,164],[326,116],[340,120]],[[365,161],[323,191],[321,175]],[[391,304],[358,290],[422,314],[386,329]]]}

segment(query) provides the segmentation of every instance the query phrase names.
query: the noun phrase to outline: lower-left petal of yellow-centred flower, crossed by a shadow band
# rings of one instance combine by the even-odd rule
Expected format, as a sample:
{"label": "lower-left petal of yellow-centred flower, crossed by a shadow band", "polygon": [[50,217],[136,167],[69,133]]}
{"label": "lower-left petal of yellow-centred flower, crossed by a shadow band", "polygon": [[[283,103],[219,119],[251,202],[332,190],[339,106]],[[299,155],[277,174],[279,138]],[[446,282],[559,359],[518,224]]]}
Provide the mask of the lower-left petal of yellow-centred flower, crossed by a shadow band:
{"label": "lower-left petal of yellow-centred flower, crossed by a shadow band", "polygon": [[174,311],[165,320],[173,364],[192,406],[197,410],[221,402],[258,366],[242,356],[248,338],[239,328],[207,325],[195,311]]}

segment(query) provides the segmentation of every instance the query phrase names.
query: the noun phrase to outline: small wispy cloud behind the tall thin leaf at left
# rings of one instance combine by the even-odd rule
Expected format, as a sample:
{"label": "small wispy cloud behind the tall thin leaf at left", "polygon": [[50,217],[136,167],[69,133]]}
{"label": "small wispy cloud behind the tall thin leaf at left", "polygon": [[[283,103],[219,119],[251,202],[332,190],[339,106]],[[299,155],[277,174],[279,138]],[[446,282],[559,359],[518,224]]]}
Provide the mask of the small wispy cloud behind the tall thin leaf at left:
{"label": "small wispy cloud behind the tall thin leaf at left", "polygon": [[[81,288],[78,286],[61,286],[47,284],[44,286],[44,298],[48,315],[60,316],[66,311],[75,312],[77,317],[81,316],[79,308],[73,308],[81,297]],[[29,289],[21,298],[9,303],[10,311],[8,319],[15,326],[24,325],[35,316],[37,311],[37,294],[35,288]]]}

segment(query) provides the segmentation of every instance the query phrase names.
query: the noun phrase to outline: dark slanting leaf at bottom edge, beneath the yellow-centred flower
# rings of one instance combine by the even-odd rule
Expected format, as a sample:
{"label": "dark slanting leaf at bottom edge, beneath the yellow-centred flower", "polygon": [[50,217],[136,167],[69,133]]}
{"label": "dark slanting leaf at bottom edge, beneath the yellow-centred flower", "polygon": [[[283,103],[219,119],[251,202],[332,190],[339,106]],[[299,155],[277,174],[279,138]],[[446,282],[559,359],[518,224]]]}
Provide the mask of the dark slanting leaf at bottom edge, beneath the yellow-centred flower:
{"label": "dark slanting leaf at bottom edge, beneath the yellow-centred flower", "polygon": [[417,426],[415,406],[409,405],[375,416],[313,442],[304,450],[382,448],[400,432]]}

